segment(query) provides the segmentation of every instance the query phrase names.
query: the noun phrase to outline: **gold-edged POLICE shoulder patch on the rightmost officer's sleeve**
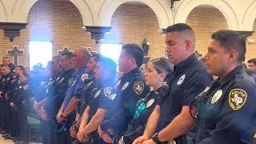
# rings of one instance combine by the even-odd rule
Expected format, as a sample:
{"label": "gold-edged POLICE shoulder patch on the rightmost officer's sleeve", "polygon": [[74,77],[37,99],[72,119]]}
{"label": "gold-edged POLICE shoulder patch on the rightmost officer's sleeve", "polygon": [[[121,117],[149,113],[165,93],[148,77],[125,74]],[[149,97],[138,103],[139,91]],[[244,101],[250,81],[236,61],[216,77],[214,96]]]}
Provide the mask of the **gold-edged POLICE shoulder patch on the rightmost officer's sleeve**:
{"label": "gold-edged POLICE shoulder patch on the rightmost officer's sleeve", "polygon": [[233,110],[239,110],[246,103],[247,94],[245,90],[233,89],[229,94],[230,107]]}

